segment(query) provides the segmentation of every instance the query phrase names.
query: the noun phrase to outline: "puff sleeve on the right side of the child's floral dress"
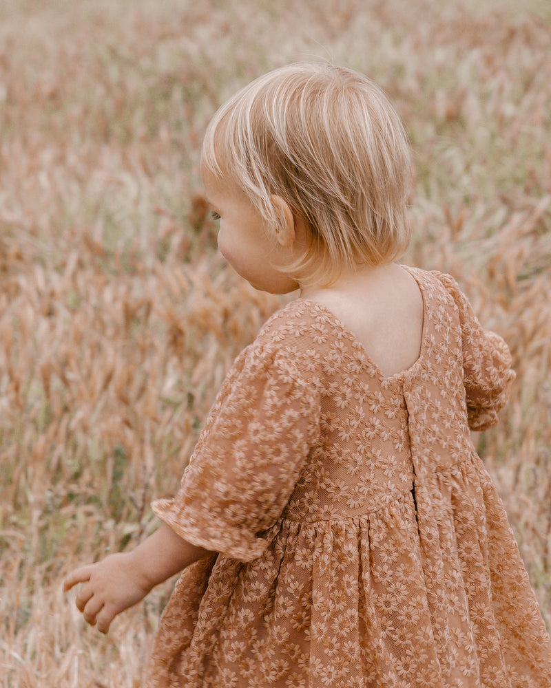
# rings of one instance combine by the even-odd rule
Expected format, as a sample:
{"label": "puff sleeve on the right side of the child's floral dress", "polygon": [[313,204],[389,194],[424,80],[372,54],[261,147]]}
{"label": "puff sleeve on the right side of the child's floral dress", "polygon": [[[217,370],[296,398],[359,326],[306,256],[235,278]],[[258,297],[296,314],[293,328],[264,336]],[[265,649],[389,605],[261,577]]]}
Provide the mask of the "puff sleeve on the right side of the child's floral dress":
{"label": "puff sleeve on the right side of the child's floral dress", "polygon": [[450,275],[435,273],[453,298],[459,314],[463,352],[464,385],[471,430],[486,430],[497,423],[511,383],[511,354],[503,339],[484,330],[467,297]]}

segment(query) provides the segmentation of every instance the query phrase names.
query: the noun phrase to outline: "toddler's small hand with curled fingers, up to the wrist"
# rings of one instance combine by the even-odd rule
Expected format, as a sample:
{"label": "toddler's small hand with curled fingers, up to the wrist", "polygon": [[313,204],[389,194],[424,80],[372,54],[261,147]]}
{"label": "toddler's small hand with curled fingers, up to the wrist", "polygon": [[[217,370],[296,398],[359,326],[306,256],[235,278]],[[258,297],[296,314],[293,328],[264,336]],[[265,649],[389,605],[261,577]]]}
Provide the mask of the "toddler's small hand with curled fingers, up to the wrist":
{"label": "toddler's small hand with curled fingers, up to the wrist", "polygon": [[110,555],[70,573],[63,581],[67,592],[77,583],[83,583],[76,595],[76,607],[91,626],[97,623],[98,631],[107,633],[117,614],[143,599],[149,590],[132,560],[132,552]]}

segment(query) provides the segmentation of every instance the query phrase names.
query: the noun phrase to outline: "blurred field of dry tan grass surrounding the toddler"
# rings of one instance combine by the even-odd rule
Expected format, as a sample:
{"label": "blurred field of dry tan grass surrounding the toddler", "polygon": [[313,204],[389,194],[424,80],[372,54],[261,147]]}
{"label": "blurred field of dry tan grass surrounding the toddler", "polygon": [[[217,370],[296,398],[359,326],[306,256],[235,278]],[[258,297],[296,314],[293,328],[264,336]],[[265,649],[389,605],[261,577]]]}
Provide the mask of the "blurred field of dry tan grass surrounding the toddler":
{"label": "blurred field of dry tan grass surrounding the toddler", "polygon": [[237,87],[315,56],[406,122],[404,261],[453,272],[510,344],[477,442],[551,623],[550,55],[546,0],[0,0],[1,688],[139,685],[170,582],[104,637],[61,580],[155,528],[280,305],[217,254],[198,153]]}

